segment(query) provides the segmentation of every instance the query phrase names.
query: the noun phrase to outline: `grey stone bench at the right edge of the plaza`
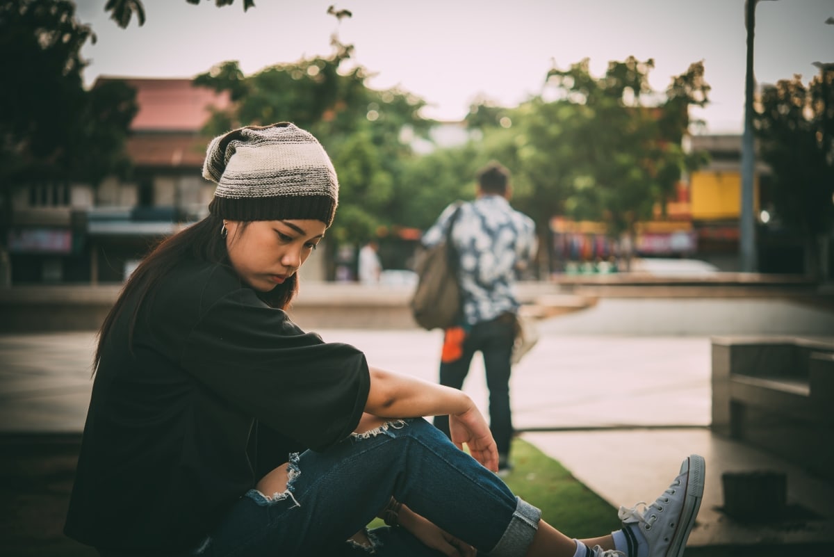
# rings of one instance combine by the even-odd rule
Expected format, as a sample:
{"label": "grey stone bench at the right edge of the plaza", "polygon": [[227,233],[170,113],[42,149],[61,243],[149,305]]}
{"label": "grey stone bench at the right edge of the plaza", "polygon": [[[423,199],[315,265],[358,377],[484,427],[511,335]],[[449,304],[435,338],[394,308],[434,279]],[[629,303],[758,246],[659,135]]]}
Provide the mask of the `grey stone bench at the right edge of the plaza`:
{"label": "grey stone bench at the right edge of the plaza", "polygon": [[834,339],[712,339],[712,430],[834,479]]}

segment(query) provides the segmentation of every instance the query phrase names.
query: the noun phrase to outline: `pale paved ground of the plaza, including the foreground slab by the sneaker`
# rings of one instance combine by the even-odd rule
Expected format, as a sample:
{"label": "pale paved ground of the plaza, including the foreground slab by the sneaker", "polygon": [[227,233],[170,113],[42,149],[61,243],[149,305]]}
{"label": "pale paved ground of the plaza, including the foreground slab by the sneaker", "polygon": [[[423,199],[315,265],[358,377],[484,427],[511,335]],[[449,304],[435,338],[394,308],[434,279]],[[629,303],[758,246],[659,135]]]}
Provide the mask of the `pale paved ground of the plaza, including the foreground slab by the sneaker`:
{"label": "pale paved ground of the plaza, including the foreground slab by the sneaker", "polygon": [[[556,322],[559,319],[555,320]],[[711,344],[706,336],[570,336],[542,327],[540,344],[511,383],[515,428],[618,507],[651,502],[687,454],[706,457],[705,498],[692,546],[834,541],[834,486],[708,429]],[[440,332],[319,330],[354,344],[369,363],[435,381]],[[89,390],[92,332],[0,335],[0,433],[78,433]],[[487,389],[475,359],[465,390],[484,411]],[[721,514],[721,474],[788,474],[788,504],[821,516],[743,527]]]}

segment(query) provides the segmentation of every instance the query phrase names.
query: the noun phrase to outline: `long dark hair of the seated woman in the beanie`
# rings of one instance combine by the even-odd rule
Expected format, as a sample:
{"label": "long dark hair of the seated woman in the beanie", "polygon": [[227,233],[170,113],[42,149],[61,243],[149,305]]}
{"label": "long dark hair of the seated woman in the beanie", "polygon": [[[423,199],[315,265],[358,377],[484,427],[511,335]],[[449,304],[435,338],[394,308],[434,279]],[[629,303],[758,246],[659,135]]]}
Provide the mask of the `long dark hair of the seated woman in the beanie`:
{"label": "long dark hair of the seated woman in the beanie", "polygon": [[[236,233],[242,231],[248,224],[246,222],[242,223],[242,226],[236,228]],[[177,263],[183,261],[183,259],[196,259],[231,267],[229,253],[226,250],[226,240],[220,233],[221,228],[223,228],[223,218],[209,214],[208,217],[203,218],[198,223],[194,223],[164,239],[156,248],[153,248],[153,251],[143,259],[142,263],[139,263],[136,270],[128,278],[128,282],[124,284],[116,303],[113,304],[113,308],[110,309],[104,319],[101,329],[98,330],[98,347],[93,359],[93,374],[98,369],[98,364],[101,363],[102,348],[107,335],[113,328],[116,319],[122,314],[128,299],[133,296],[137,297],[133,315],[130,316],[128,344],[132,345],[133,328],[136,324],[139,308],[149,295],[153,295],[153,287]],[[273,308],[287,309],[298,289],[298,274],[294,273],[283,284],[279,284],[267,293],[258,293],[258,296],[264,300],[264,303]]]}

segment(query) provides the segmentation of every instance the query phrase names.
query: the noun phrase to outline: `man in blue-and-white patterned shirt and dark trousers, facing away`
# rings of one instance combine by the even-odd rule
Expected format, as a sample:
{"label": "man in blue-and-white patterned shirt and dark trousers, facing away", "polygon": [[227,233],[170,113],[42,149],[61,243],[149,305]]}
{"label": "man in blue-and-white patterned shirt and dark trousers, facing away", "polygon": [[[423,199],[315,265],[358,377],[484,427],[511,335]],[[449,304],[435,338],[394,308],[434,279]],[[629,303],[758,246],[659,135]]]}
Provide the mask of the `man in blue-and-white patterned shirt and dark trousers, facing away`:
{"label": "man in blue-and-white patterned shirt and dark trousers, facing away", "polygon": [[[513,287],[515,273],[533,259],[535,224],[510,207],[510,173],[490,163],[477,174],[475,201],[460,205],[452,227],[451,244],[459,258],[462,315],[458,326],[446,329],[440,357],[440,384],[463,387],[475,352],[484,358],[490,389],[490,429],[498,444],[499,474],[510,471],[510,357],[515,340],[519,302]],[[423,244],[439,243],[455,205],[445,208],[423,237]],[[436,416],[435,425],[449,435],[449,418]]]}

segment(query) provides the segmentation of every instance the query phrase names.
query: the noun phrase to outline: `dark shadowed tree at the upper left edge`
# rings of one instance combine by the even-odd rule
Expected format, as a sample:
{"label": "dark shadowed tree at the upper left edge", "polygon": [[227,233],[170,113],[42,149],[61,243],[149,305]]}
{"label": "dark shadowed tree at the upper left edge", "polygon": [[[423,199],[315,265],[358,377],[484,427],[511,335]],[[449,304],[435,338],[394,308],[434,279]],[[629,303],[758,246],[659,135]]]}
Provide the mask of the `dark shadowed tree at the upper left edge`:
{"label": "dark shadowed tree at the upper left edge", "polygon": [[[124,143],[136,113],[124,83],[87,91],[80,50],[92,30],[68,0],[0,5],[0,210],[11,215],[13,188],[27,183],[96,184],[124,168]],[[0,231],[5,232],[5,231]],[[3,243],[6,234],[3,233]]]}

